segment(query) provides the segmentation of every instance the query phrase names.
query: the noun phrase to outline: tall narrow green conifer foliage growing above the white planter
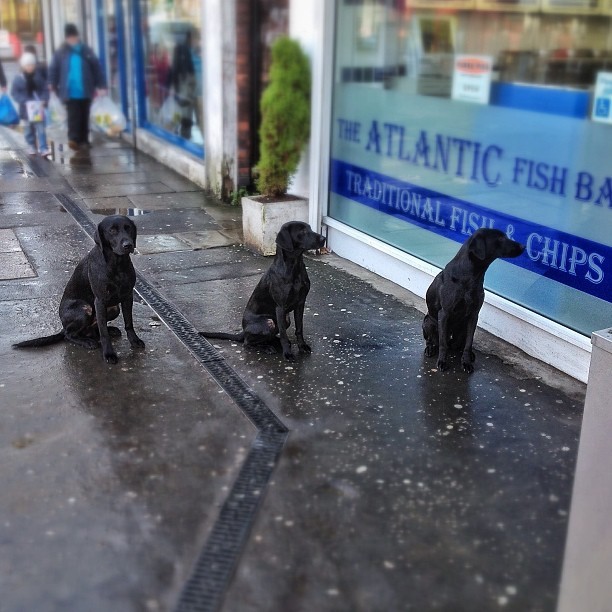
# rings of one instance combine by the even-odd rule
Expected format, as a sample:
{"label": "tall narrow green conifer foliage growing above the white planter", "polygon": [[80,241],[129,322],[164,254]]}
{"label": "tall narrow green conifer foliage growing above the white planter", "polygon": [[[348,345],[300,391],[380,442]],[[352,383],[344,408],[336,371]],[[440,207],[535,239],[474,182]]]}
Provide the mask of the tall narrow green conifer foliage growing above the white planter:
{"label": "tall narrow green conifer foliage growing above the white planter", "polygon": [[257,189],[278,197],[287,193],[310,136],[310,66],[300,45],[286,36],[272,45],[261,115]]}

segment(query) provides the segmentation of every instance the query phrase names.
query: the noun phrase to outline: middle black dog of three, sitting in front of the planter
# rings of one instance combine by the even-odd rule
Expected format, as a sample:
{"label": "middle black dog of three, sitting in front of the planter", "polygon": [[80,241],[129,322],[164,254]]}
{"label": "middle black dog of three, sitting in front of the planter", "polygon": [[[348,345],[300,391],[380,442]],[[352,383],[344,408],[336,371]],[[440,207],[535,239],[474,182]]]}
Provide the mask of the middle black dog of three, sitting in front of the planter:
{"label": "middle black dog of three, sitting in front of the planter", "polygon": [[285,359],[294,361],[291,342],[287,338],[289,313],[294,312],[295,337],[300,353],[310,353],[304,342],[304,304],[310,290],[304,251],[320,249],[325,238],[313,232],[307,223],[291,221],[281,227],[276,236],[276,255],[269,270],[261,277],[242,317],[242,333],[224,334],[200,332],[206,338],[220,338],[244,342],[245,346],[266,347],[274,350],[278,344]]}

